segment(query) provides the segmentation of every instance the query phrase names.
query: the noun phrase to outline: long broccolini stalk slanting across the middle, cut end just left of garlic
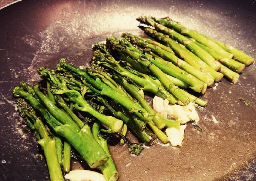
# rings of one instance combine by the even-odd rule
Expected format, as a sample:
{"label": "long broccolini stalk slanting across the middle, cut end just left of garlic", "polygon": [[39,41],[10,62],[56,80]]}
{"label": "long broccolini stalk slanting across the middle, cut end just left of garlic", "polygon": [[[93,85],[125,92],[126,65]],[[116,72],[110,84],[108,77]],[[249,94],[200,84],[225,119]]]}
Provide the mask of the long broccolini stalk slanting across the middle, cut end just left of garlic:
{"label": "long broccolini stalk slanting across the middle, cut end just left of garlic", "polygon": [[[75,76],[79,75],[81,77],[84,77],[86,81],[88,81],[88,83],[90,83],[91,85],[97,88],[97,89],[95,88],[93,89],[93,91],[95,91],[97,94],[105,95],[115,100],[117,103],[121,104],[123,107],[126,107],[126,109],[128,109],[130,112],[133,112],[135,115],[137,115],[144,121],[149,121],[149,122],[152,121],[152,118],[154,117],[154,113],[146,112],[145,109],[134,104],[133,101],[129,100],[124,95],[111,89],[109,86],[103,83],[98,77],[95,77],[90,71],[71,66],[66,63],[65,59],[60,60],[60,64],[57,65],[57,69],[59,71],[69,71]],[[90,87],[90,88],[93,88],[93,87]]]}

